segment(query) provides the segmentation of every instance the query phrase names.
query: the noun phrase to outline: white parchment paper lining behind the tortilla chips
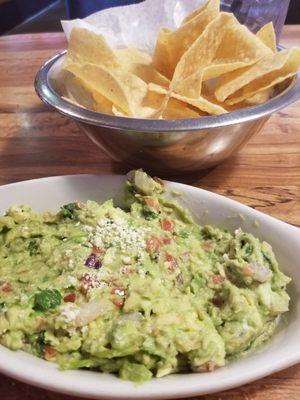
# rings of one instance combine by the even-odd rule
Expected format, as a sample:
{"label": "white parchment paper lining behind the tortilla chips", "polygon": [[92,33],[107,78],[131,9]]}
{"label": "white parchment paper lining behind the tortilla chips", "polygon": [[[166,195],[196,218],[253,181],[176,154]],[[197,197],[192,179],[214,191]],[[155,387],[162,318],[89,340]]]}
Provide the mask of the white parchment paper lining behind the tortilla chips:
{"label": "white parchment paper lining behind the tortilla chips", "polygon": [[67,39],[73,28],[87,28],[102,34],[114,48],[135,47],[151,54],[160,28],[177,28],[187,14],[205,1],[146,0],[61,23]]}

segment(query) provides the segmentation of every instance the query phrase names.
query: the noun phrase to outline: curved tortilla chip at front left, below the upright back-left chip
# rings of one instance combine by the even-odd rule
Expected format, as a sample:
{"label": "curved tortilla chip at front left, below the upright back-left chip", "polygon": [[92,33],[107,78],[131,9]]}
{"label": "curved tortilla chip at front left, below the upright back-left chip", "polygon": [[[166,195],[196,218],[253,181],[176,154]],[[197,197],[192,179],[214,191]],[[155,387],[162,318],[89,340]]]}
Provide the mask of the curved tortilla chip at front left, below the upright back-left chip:
{"label": "curved tortilla chip at front left, below the upright back-left chip", "polygon": [[81,79],[91,93],[99,93],[129,116],[136,116],[147,93],[147,84],[121,69],[108,70],[95,64],[72,64],[67,70]]}

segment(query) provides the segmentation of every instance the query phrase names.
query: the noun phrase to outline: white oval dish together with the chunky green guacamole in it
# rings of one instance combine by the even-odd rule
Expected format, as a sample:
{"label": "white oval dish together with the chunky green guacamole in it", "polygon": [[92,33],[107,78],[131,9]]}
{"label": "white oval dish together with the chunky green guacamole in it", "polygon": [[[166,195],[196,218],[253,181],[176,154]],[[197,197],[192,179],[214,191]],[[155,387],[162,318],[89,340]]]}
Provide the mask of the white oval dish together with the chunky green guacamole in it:
{"label": "white oval dish together with the chunky green guacamole in it", "polygon": [[298,361],[297,228],[142,171],[0,195],[1,372],[80,396],[163,398]]}

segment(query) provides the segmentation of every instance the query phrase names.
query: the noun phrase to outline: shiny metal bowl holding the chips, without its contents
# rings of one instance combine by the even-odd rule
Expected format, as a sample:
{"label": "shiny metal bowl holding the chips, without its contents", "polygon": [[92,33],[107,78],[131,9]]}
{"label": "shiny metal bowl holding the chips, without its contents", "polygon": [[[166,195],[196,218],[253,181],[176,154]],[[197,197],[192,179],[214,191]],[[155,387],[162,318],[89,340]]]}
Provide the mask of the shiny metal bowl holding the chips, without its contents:
{"label": "shiny metal bowl holding the chips, without its contents", "polygon": [[35,89],[46,104],[74,119],[115,161],[161,176],[210,168],[236,153],[275,111],[300,98],[300,76],[281,85],[268,102],[227,114],[193,119],[154,120],[101,114],[72,104],[55,89],[65,51],[38,71]]}

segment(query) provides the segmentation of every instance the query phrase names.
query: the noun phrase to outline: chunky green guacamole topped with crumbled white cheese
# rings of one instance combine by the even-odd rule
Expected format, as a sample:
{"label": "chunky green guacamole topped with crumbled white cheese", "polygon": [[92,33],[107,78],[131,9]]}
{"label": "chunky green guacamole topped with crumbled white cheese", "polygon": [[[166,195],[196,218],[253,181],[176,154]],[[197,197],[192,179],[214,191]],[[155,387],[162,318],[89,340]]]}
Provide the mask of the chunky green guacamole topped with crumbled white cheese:
{"label": "chunky green guacamole topped with crumbled white cheese", "polygon": [[144,382],[213,371],[269,339],[290,281],[271,246],[199,226],[163,192],[133,171],[122,209],[87,201],[0,217],[0,343]]}

